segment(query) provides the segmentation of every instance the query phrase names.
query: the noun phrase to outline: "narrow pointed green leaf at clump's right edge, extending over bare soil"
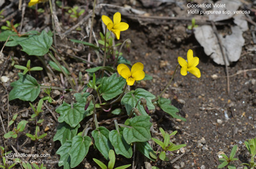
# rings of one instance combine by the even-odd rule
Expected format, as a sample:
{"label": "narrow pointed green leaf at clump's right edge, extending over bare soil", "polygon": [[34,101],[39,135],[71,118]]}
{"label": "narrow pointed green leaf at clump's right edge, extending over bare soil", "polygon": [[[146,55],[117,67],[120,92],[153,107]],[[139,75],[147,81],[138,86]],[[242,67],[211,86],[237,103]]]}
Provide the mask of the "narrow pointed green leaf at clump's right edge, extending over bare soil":
{"label": "narrow pointed green leaf at clump's right edge, extending over bare soil", "polygon": [[173,107],[171,104],[170,99],[166,99],[166,98],[159,98],[158,100],[158,105],[159,107],[164,110],[164,112],[172,115],[173,118],[176,119],[180,119],[182,121],[186,121],[185,118],[180,117],[179,115],[177,115],[176,113],[179,112],[178,108]]}

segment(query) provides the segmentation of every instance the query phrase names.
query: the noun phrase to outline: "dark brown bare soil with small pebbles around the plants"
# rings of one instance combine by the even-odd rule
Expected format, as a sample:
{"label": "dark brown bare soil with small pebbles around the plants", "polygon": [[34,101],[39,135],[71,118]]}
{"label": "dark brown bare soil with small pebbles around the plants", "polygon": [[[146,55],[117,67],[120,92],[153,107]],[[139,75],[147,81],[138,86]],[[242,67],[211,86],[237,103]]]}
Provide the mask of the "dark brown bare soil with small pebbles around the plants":
{"label": "dark brown bare soil with small pebbles around the plants", "polygon": [[[239,168],[241,163],[248,163],[250,156],[244,145],[244,141],[256,137],[256,55],[253,50],[255,43],[253,43],[253,33],[250,30],[254,30],[252,25],[255,20],[255,15],[251,15],[252,22],[249,23],[249,30],[245,31],[243,37],[245,44],[242,49],[241,57],[239,61],[233,62],[228,66],[228,73],[230,79],[229,92],[227,89],[227,73],[225,66],[220,66],[212,61],[212,59],[204,54],[204,48],[200,47],[196,41],[193,33],[189,32],[187,26],[190,24],[192,17],[195,15],[189,15],[186,10],[186,1],[179,1],[179,3],[171,3],[172,1],[97,1],[99,3],[113,4],[116,6],[129,5],[136,10],[146,11],[145,16],[158,16],[158,17],[170,17],[175,16],[169,22],[165,20],[150,20],[140,21],[140,18],[134,19],[129,15],[122,14],[122,21],[129,23],[129,29],[121,33],[120,40],[116,40],[116,43],[124,41],[126,38],[131,39],[130,52],[124,50],[124,57],[134,64],[135,62],[142,62],[144,64],[144,70],[148,75],[152,76],[152,80],[147,80],[139,84],[140,87],[147,89],[153,94],[159,94],[163,91],[165,85],[168,83],[173,75],[173,71],[177,66],[177,57],[186,58],[186,54],[189,49],[192,49],[194,56],[199,57],[200,63],[198,68],[201,71],[202,76],[196,78],[189,73],[186,77],[180,75],[180,68],[178,68],[175,78],[172,84],[168,87],[168,90],[163,95],[164,98],[172,100],[172,105],[179,108],[179,115],[187,119],[186,122],[172,119],[170,115],[165,114],[159,109],[151,112],[154,130],[157,133],[152,133],[153,137],[161,139],[159,135],[159,127],[165,131],[172,133],[177,130],[177,135],[173,138],[173,143],[186,143],[187,146],[180,151],[175,151],[173,156],[170,156],[170,161],[157,161],[154,163],[148,159],[142,158],[140,153],[135,155],[136,168],[145,168],[145,161],[149,162],[152,166],[159,168],[217,168],[220,165],[218,161],[218,155],[220,152],[225,152],[229,156],[230,151],[234,145],[238,145],[236,158],[239,160],[234,164]],[[165,3],[164,3],[165,2]],[[195,1],[194,3],[200,3],[201,1]],[[20,23],[20,13],[18,11],[19,1],[5,0],[5,3],[1,8],[7,9],[2,15],[4,18],[8,17],[12,13],[13,23]],[[6,6],[13,4],[10,8]],[[88,15],[88,11],[92,10],[93,3],[91,1],[68,1],[67,6],[80,6],[86,12],[83,17]],[[255,8],[253,4],[243,4],[251,9]],[[244,6],[241,8],[244,8]],[[29,29],[44,30],[52,29],[51,20],[47,20],[49,17],[49,5],[38,4],[38,8],[44,8],[44,13],[38,13],[36,17],[35,12],[31,8],[26,8],[24,15],[24,29],[22,31],[30,31]],[[114,9],[114,10],[113,10]],[[111,11],[113,10],[113,11]],[[100,21],[101,15],[112,16],[115,13],[115,8],[101,8],[96,12],[95,22],[93,23],[93,31],[95,36],[99,39],[99,32],[102,32],[102,26]],[[65,31],[74,26],[79,20],[72,20],[67,15],[61,14],[60,8],[57,10],[59,20],[64,20],[65,25],[61,28]],[[45,16],[46,17],[45,17]],[[187,17],[189,19],[180,20],[179,18]],[[196,16],[204,20],[207,16]],[[44,23],[45,22],[45,23]],[[196,22],[197,23],[197,22]],[[207,22],[198,22],[201,25],[207,24]],[[232,19],[221,22],[223,25],[217,26],[218,31],[223,33],[223,36],[228,34],[230,25],[233,24]],[[0,26],[5,25],[5,22],[1,21]],[[69,39],[83,38],[87,33],[84,31],[88,22],[84,22],[81,26],[82,31],[80,33],[68,34]],[[18,27],[19,28],[19,27]],[[83,36],[81,35],[83,34]],[[57,36],[57,48],[60,50],[60,54],[65,56],[65,61],[68,62],[70,68],[74,71],[74,76],[78,78],[78,73],[83,73],[83,80],[86,80],[86,68],[87,64],[77,59],[69,57],[68,54],[79,55],[87,59],[88,52],[92,54],[92,62],[99,64],[97,55],[88,50],[86,47],[77,45],[77,43],[70,43],[67,40],[60,40]],[[93,40],[93,38],[92,38]],[[88,37],[84,39],[88,41]],[[93,40],[94,41],[94,40]],[[232,43],[232,42],[230,42]],[[1,46],[3,43],[1,43]],[[12,119],[13,114],[18,113],[18,117],[15,121],[15,126],[21,120],[29,120],[33,110],[31,110],[28,101],[20,101],[15,99],[8,101],[8,93],[11,91],[11,82],[18,79],[17,73],[19,70],[15,69],[11,63],[19,63],[20,65],[26,65],[28,59],[31,59],[31,66],[40,65],[40,61],[33,56],[28,56],[24,52],[20,51],[20,47],[4,47],[3,56],[1,57],[1,73],[3,76],[10,78],[10,81],[3,83],[0,82],[0,97],[1,97],[1,130],[0,130],[0,145],[6,147],[7,151],[15,151],[30,153],[30,154],[50,154],[48,160],[58,161],[60,156],[56,154],[56,151],[60,147],[60,142],[53,142],[53,137],[56,133],[58,121],[54,119],[49,110],[58,117],[58,114],[54,112],[58,106],[60,106],[61,96],[65,96],[65,101],[70,103],[72,100],[72,93],[60,93],[58,91],[52,92],[52,98],[56,100],[55,104],[47,103],[49,108],[44,107],[44,112],[41,113],[41,119],[44,122],[40,126],[42,133],[47,133],[47,136],[33,142],[26,137],[26,133],[35,133],[35,121],[29,121],[24,132],[19,133],[17,140],[14,138],[4,139],[3,135],[6,131],[11,131],[13,126],[8,128],[8,121]],[[13,59],[8,59],[8,55],[13,56]],[[10,57],[11,58],[11,57]],[[49,59],[45,57],[45,59]],[[100,65],[100,64],[99,64]],[[254,69],[254,70],[253,70]],[[248,70],[243,71],[241,70]],[[237,73],[238,72],[238,73]],[[239,73],[240,72],[240,73]],[[53,82],[49,80],[47,74],[44,73],[32,73],[33,77],[38,80],[39,84],[50,84],[61,86],[60,75],[56,73],[56,79]],[[132,87],[133,89],[134,87]],[[45,96],[45,95],[44,95]],[[40,95],[40,98],[43,96]],[[36,99],[35,103],[38,101]],[[58,102],[59,101],[59,102]],[[106,119],[105,119],[106,120]],[[3,122],[3,123],[2,123]],[[110,122],[111,123],[111,122]],[[104,126],[109,126],[108,123],[104,123]],[[3,128],[4,127],[4,128]],[[111,128],[111,127],[109,127]],[[5,131],[4,131],[5,130]],[[154,149],[157,147],[154,145]],[[180,156],[184,151],[184,154]],[[175,158],[178,159],[174,160]],[[90,147],[89,154],[83,160],[83,162],[76,168],[98,168],[92,158],[102,160],[105,164],[107,161],[102,155]],[[43,158],[42,158],[43,159]],[[36,161],[38,158],[30,158],[29,160]],[[116,166],[124,164],[132,164],[133,159],[125,159],[122,156],[117,156]],[[2,161],[0,161],[2,164]],[[46,168],[62,168],[58,167],[58,164],[45,164]],[[16,165],[15,168],[21,168]]]}

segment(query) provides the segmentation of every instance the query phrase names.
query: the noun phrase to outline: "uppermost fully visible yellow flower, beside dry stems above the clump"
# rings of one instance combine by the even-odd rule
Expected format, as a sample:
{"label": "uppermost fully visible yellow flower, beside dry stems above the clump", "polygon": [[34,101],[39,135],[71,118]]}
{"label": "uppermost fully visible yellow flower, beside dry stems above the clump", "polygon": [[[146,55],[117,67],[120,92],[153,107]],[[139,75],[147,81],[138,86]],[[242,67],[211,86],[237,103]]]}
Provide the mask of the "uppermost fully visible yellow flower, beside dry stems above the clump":
{"label": "uppermost fully visible yellow flower, beside dry stems above the clump", "polygon": [[116,36],[116,39],[120,38],[120,31],[125,31],[128,29],[129,25],[125,22],[121,22],[121,13],[116,12],[112,20],[106,15],[101,17],[103,23],[108,27],[108,30],[113,32]]}

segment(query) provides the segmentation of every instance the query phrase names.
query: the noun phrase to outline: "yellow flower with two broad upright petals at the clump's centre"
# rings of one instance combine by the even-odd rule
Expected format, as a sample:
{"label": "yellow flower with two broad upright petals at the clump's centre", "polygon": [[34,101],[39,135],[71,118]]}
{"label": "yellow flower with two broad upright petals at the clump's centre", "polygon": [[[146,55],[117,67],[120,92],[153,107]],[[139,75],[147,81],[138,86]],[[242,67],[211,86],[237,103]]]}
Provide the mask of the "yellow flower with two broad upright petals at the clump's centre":
{"label": "yellow flower with two broad upright petals at the clump's centre", "polygon": [[136,62],[136,64],[132,66],[131,71],[125,64],[119,64],[117,66],[117,71],[126,79],[127,85],[133,85],[135,80],[142,80],[145,77],[143,68],[144,66],[141,62]]}

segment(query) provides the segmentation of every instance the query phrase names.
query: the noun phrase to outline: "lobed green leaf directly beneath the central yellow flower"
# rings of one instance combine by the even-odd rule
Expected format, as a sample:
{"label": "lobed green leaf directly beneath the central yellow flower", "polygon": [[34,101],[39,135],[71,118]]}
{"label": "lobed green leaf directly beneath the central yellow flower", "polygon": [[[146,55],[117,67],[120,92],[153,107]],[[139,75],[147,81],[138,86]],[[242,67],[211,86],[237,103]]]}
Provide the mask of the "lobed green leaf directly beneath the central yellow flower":
{"label": "lobed green leaf directly beneath the central yellow flower", "polygon": [[[121,100],[121,104],[125,105],[125,109],[127,111],[127,114],[131,111],[132,108],[135,107],[137,101],[140,98],[145,98],[147,100],[147,107],[148,110],[153,110],[155,106],[152,104],[151,100],[156,98],[154,94],[151,94],[150,92],[146,91],[145,89],[136,89],[136,91],[131,91],[125,94]],[[137,105],[138,110],[141,112],[141,115],[147,115],[147,112],[144,110],[143,106],[138,104]]]}

